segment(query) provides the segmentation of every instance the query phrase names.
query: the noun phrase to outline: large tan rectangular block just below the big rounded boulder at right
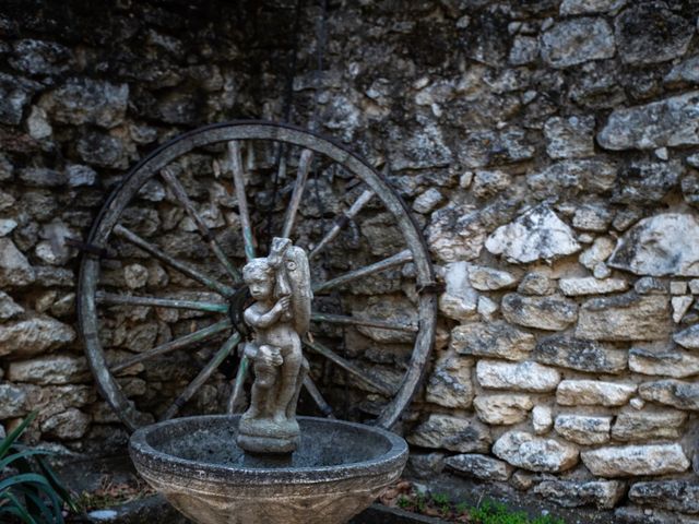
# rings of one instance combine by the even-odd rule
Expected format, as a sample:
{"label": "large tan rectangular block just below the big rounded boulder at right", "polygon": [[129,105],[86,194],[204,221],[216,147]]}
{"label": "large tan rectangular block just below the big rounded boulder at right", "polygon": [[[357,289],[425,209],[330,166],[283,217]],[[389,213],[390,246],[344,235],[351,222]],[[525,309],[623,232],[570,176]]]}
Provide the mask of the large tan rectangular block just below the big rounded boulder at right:
{"label": "large tan rectangular block just below the big rounded boulder at right", "polygon": [[576,336],[595,341],[657,341],[668,338],[671,332],[670,297],[629,291],[583,303]]}

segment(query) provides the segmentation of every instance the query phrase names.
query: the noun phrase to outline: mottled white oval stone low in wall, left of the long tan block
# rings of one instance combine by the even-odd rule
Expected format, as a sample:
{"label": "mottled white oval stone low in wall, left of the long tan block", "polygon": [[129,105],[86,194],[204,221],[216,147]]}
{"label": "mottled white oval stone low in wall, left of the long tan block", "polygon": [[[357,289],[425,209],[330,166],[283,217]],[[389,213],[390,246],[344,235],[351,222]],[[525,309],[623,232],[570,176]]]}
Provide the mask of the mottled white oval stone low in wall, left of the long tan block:
{"label": "mottled white oval stone low in wall, left of the long tan block", "polygon": [[493,445],[493,454],[532,472],[557,473],[578,463],[578,448],[524,431],[508,431]]}

